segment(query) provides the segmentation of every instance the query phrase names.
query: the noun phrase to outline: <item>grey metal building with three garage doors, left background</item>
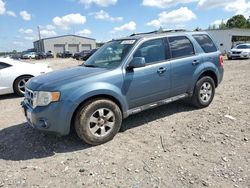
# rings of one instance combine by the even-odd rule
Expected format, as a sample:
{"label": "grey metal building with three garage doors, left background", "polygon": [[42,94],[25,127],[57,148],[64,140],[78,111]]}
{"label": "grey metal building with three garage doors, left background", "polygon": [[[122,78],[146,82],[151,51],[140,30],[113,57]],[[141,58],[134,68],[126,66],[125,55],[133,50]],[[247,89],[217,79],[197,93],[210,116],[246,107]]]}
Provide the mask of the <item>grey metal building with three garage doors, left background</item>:
{"label": "grey metal building with three garage doors, left background", "polygon": [[52,51],[54,54],[70,51],[71,53],[96,48],[96,40],[77,35],[63,35],[44,38],[33,43],[38,52]]}

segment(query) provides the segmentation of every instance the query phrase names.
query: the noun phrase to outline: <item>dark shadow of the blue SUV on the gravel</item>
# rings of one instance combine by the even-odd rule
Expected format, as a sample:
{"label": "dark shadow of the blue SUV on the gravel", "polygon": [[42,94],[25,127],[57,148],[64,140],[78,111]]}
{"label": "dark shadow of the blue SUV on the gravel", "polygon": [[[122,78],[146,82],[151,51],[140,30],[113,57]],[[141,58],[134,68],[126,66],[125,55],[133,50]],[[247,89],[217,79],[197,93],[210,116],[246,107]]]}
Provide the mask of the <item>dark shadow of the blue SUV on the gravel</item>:
{"label": "dark shadow of the blue SUV on the gravel", "polygon": [[[175,102],[148,110],[124,120],[121,131],[142,126],[172,114],[191,111],[194,108],[183,102]],[[8,127],[0,131],[0,159],[30,160],[53,156],[55,153],[67,153],[88,149],[76,134],[66,137],[47,135],[31,128],[27,123]]]}

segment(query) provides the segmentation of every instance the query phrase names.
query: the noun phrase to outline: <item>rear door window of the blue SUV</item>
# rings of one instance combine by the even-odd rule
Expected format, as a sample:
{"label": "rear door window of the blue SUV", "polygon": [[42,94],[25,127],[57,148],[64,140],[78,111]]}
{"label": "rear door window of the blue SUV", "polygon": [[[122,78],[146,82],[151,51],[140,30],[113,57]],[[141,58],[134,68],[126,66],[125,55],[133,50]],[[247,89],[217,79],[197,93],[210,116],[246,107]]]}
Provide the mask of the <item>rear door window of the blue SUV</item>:
{"label": "rear door window of the blue SUV", "polygon": [[168,41],[172,58],[181,58],[195,54],[193,44],[185,36],[169,37]]}

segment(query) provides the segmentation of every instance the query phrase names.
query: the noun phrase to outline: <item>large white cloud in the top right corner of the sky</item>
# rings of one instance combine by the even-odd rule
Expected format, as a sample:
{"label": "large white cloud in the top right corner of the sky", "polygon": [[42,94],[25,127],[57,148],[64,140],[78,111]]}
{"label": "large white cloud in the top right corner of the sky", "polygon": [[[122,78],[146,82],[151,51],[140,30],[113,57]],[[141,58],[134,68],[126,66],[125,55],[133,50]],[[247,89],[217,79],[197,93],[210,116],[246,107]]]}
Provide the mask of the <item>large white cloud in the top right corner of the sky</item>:
{"label": "large white cloud in the top right corner of the sky", "polygon": [[224,8],[225,11],[243,14],[246,17],[250,15],[250,2],[246,0],[200,0],[198,6],[205,9]]}

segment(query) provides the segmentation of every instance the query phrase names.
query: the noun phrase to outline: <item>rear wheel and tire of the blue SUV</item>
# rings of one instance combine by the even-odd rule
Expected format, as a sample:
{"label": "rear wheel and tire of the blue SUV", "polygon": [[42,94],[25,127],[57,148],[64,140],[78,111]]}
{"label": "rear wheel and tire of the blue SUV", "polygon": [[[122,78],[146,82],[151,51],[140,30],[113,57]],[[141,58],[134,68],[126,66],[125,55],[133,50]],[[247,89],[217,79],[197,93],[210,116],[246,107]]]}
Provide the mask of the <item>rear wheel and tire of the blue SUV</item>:
{"label": "rear wheel and tire of the blue SUV", "polygon": [[195,85],[191,103],[195,107],[205,108],[211,104],[215,94],[214,80],[209,76],[199,79]]}

